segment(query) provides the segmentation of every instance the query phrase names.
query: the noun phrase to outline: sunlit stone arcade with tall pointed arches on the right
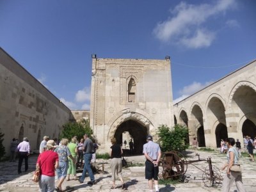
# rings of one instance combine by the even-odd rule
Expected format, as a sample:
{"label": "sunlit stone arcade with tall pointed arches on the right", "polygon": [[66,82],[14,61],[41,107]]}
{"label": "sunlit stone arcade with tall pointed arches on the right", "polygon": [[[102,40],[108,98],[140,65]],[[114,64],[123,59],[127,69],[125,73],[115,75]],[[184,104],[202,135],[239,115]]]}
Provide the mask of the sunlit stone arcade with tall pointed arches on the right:
{"label": "sunlit stone arcade with tall pointed arches on the right", "polygon": [[256,136],[256,60],[174,104],[175,124],[189,128],[199,147],[220,147],[221,139]]}

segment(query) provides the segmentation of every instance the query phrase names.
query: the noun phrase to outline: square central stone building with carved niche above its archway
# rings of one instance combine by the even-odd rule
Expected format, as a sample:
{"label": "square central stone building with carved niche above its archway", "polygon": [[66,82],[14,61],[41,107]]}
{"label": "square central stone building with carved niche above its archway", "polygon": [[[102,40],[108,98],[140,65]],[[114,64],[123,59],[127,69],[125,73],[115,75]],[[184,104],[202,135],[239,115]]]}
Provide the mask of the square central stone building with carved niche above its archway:
{"label": "square central stone building with carved niche above its archway", "polygon": [[[166,60],[92,59],[90,126],[100,150],[129,132],[140,154],[148,134],[173,125],[170,57]],[[154,137],[156,139],[156,137]]]}

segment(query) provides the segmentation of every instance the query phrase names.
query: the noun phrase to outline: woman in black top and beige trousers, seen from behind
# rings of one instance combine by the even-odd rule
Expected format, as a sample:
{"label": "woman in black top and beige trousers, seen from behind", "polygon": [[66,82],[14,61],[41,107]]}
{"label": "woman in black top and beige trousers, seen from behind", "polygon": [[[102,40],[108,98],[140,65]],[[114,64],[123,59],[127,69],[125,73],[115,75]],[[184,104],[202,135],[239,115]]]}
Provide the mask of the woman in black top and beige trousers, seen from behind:
{"label": "woman in black top and beige trousers, seen from behind", "polygon": [[111,157],[112,187],[116,189],[116,175],[122,182],[122,189],[125,189],[124,179],[122,177],[122,154],[123,150],[120,145],[116,144],[116,139],[111,138],[112,146],[110,147],[109,156]]}

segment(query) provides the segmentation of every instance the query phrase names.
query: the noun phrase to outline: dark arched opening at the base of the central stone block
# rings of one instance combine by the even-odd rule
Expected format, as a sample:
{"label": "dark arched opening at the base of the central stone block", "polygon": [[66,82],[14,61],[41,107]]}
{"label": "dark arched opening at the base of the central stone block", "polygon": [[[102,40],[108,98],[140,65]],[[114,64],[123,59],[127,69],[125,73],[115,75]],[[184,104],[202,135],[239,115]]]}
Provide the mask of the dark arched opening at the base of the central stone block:
{"label": "dark arched opening at the base of the central stone block", "polygon": [[[141,125],[136,120],[127,120],[120,124],[114,134],[116,138],[116,143],[124,143],[122,134],[124,132],[129,132],[129,135],[132,138],[134,143],[134,152],[133,154],[142,154],[143,152],[143,145],[147,143],[147,127]],[[127,141],[129,143],[129,141]]]}

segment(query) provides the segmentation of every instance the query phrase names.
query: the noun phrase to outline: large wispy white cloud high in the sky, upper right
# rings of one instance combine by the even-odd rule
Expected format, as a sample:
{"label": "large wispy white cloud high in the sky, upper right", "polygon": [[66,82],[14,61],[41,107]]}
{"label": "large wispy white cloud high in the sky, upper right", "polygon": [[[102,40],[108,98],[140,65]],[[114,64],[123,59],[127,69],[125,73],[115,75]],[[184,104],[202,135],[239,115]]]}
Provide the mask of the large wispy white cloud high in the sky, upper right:
{"label": "large wispy white cloud high in the sky, upper right", "polygon": [[[190,48],[208,47],[215,38],[215,33],[205,28],[204,23],[211,16],[232,8],[235,0],[219,0],[215,4],[179,3],[170,10],[173,17],[159,22],[154,34],[162,42],[175,42]],[[198,40],[198,42],[196,42]]]}

